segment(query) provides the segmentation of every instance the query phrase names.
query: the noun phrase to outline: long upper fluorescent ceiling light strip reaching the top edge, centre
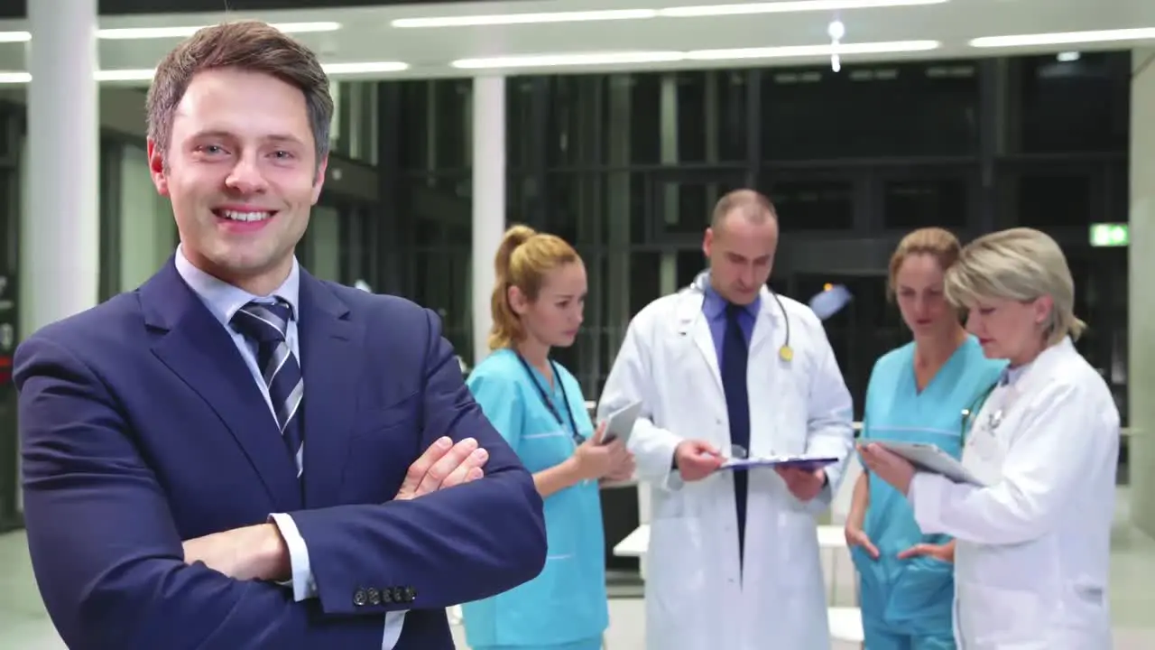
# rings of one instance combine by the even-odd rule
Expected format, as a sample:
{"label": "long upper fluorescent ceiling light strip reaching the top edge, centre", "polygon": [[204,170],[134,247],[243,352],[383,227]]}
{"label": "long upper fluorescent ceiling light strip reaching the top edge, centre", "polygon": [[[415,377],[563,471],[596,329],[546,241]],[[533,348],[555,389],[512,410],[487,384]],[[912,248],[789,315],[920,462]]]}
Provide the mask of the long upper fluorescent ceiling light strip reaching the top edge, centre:
{"label": "long upper fluorescent ceiling light strip reaching the top edge, centre", "polygon": [[881,7],[914,7],[942,5],[951,0],[783,0],[780,2],[746,2],[742,5],[699,5],[664,9],[599,9],[588,12],[537,12],[531,14],[480,14],[471,16],[432,16],[396,19],[389,24],[402,29],[439,27],[483,27],[498,24],[543,24],[594,21],[640,21],[648,19],[686,19],[706,16],[739,16],[751,14],[792,14],[802,12],[839,12]]}

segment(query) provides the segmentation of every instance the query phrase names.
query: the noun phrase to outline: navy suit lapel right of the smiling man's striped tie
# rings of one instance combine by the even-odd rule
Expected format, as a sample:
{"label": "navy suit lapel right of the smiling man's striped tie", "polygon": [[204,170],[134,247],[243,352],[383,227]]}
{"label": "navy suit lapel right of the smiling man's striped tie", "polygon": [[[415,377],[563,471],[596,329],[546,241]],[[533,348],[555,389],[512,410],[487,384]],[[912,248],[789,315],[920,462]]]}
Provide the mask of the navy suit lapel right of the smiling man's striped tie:
{"label": "navy suit lapel right of the smiling man's striped tie", "polygon": [[305,375],[305,507],[337,503],[357,411],[365,328],[333,289],[300,274],[301,371]]}

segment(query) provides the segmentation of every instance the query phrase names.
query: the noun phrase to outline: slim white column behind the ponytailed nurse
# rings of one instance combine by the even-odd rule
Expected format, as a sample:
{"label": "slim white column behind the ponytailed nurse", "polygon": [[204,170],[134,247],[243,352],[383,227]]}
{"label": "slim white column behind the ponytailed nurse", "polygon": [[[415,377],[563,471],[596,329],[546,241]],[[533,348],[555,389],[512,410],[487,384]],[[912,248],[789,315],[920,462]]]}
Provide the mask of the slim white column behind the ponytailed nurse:
{"label": "slim white column behind the ponytailed nurse", "polygon": [[493,256],[506,229],[505,77],[474,79],[474,230],[472,287],[474,364],[489,354],[486,339],[493,319],[490,295],[497,281]]}

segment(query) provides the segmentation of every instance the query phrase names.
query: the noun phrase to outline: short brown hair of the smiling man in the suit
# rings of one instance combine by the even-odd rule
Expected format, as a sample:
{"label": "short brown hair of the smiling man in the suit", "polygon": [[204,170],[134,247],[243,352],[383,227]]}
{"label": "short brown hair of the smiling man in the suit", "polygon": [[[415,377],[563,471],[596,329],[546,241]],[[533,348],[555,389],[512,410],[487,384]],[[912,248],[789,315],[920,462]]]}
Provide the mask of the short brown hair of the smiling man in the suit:
{"label": "short brown hair of the smiling man in the suit", "polygon": [[237,68],[264,73],[305,94],[308,121],[316,142],[316,162],[329,153],[333,96],[329,77],[316,54],[281,30],[260,21],[207,27],[169,52],[156,68],[148,91],[148,136],[165,157],[172,138],[172,117],[188,83],[199,72]]}

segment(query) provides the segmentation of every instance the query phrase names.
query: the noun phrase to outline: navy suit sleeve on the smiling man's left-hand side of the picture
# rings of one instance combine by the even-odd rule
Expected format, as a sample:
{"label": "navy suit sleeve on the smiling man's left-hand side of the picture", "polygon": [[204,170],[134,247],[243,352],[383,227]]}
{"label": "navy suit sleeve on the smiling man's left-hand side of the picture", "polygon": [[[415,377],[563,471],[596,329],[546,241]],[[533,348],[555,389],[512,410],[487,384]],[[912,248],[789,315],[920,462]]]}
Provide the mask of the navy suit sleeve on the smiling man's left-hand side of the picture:
{"label": "navy suit sleeve on the smiling man's left-hand side of the picture", "polygon": [[21,345],[15,382],[32,570],[69,648],[380,642],[380,616],[326,622],[283,588],[186,566],[164,489],[126,415],[62,342],[37,334]]}

